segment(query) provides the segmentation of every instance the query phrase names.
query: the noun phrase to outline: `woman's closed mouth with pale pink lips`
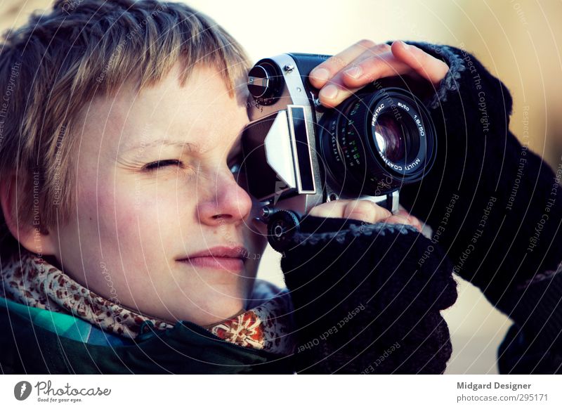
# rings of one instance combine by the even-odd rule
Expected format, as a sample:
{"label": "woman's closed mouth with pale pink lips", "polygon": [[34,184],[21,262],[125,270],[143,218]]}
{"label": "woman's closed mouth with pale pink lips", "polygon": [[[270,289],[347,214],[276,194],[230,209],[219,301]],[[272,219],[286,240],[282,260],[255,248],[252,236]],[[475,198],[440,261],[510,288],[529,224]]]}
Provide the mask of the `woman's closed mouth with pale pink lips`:
{"label": "woman's closed mouth with pale pink lips", "polygon": [[213,247],[202,252],[190,254],[185,259],[178,259],[181,263],[190,264],[197,268],[211,268],[230,273],[239,273],[244,269],[248,250],[245,247]]}

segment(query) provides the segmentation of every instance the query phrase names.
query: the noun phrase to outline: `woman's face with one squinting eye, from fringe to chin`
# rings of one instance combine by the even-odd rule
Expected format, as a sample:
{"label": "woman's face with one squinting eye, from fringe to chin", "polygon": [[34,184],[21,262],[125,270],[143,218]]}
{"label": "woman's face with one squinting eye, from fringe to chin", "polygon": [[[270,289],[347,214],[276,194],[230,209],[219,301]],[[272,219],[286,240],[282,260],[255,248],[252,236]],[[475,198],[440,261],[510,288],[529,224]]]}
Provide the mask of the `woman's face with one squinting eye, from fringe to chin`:
{"label": "woman's face with one squinting eye, from fringe to chin", "polygon": [[[183,87],[178,74],[176,65],[157,86],[89,105],[77,208],[59,228],[56,257],[107,299],[208,325],[244,308],[266,241],[252,233],[252,200],[230,169],[245,101],[228,96],[216,69],[197,67]],[[246,250],[188,259],[219,246]]]}

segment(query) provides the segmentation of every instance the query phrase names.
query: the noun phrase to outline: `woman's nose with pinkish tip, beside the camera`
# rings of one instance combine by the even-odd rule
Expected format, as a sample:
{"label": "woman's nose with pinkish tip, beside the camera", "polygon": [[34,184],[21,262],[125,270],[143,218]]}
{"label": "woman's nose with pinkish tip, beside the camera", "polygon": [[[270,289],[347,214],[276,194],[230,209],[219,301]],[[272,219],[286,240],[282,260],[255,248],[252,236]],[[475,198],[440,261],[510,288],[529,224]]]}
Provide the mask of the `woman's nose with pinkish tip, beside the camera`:
{"label": "woman's nose with pinkish tip, beside the camera", "polygon": [[219,226],[223,223],[238,224],[251,212],[251,197],[236,183],[230,171],[217,175],[215,183],[209,183],[206,194],[197,205],[197,216],[202,223]]}

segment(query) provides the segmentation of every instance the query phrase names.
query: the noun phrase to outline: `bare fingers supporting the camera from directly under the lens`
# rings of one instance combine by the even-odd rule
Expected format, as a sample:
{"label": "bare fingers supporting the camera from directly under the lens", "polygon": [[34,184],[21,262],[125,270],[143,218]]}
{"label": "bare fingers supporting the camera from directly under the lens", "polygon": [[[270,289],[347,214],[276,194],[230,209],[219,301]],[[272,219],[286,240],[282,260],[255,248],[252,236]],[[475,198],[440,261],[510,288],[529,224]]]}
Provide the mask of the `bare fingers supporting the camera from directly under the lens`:
{"label": "bare fingers supporting the camera from directly under the lens", "polygon": [[392,214],[384,207],[370,200],[332,200],[313,207],[311,216],[354,219],[366,223],[378,223],[388,219]]}

